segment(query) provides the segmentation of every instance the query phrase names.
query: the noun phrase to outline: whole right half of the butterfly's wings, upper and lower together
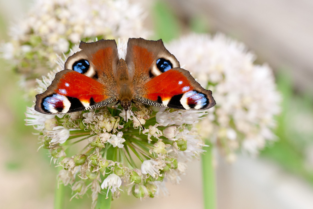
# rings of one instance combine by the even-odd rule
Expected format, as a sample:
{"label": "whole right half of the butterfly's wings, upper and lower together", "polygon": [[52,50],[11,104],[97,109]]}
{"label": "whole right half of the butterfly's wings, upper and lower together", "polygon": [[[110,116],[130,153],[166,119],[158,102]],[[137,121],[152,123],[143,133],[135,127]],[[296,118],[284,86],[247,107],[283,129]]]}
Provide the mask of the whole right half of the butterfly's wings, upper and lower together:
{"label": "whole right half of the butterfly's wings, upper and lower together", "polygon": [[134,100],[144,104],[186,110],[205,110],[215,105],[212,91],[179,68],[162,40],[129,39],[126,63],[133,73]]}

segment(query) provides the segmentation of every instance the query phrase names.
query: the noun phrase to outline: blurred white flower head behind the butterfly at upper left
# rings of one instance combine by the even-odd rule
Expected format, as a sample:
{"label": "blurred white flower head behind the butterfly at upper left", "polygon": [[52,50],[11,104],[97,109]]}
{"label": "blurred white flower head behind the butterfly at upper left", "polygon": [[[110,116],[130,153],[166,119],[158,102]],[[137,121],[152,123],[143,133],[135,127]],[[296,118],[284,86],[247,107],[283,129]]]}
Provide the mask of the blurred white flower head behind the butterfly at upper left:
{"label": "blurred white flower head behind the butterfly at upper left", "polygon": [[128,0],[37,0],[0,51],[31,80],[54,69],[56,54],[70,55],[80,40],[146,38],[144,18],[141,6]]}

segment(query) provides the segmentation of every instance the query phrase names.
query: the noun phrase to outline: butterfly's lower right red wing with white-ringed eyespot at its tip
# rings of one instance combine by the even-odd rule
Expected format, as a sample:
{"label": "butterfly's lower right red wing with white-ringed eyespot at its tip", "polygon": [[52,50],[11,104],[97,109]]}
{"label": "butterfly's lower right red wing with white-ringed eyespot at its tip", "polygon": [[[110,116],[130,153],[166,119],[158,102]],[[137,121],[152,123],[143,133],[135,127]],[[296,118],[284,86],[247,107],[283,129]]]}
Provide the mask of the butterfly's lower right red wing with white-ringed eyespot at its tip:
{"label": "butterfly's lower right red wing with white-ringed eyespot at its tip", "polygon": [[181,68],[170,69],[148,81],[134,100],[144,104],[186,110],[204,110],[215,105],[212,91]]}

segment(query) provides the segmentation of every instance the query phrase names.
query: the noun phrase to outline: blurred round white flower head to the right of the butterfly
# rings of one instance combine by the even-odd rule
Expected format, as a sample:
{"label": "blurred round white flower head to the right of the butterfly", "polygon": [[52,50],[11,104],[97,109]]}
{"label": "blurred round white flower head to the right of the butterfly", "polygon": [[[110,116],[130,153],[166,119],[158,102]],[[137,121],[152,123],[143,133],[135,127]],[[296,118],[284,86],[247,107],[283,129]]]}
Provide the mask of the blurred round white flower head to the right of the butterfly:
{"label": "blurred round white flower head to the right of the butterfly", "polygon": [[223,34],[191,34],[166,48],[182,68],[207,89],[216,105],[201,123],[201,135],[222,148],[232,161],[238,148],[257,154],[275,135],[280,94],[268,65],[254,65],[255,55],[244,44]]}

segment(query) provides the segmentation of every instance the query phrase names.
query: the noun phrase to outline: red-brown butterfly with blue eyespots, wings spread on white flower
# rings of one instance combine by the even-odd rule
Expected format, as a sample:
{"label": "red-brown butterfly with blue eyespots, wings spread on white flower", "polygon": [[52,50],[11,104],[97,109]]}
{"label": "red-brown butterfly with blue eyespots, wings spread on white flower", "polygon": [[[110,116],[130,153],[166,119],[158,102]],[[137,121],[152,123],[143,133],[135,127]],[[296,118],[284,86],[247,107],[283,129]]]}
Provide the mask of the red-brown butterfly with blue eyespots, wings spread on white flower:
{"label": "red-brown butterfly with blue eyespots, wings spread on white flower", "polygon": [[125,110],[134,101],[184,110],[205,110],[215,105],[212,91],[180,68],[162,39],[128,39],[125,60],[119,59],[115,40],[81,41],[79,48],[47,90],[36,95],[36,111],[63,114],[116,101]]}

